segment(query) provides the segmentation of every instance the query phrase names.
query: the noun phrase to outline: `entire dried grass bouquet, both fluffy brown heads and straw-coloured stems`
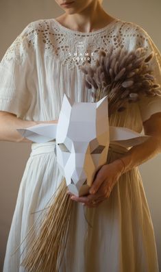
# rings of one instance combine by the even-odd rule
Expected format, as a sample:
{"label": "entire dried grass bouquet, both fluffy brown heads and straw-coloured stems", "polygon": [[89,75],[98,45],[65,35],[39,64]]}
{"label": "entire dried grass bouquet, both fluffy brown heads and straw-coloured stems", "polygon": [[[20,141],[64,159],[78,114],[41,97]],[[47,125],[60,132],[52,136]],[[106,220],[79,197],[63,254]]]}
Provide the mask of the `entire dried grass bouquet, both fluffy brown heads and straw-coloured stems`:
{"label": "entire dried grass bouquet, both fluffy brown heads and straw-coloured stems", "polygon": [[[142,95],[161,95],[160,84],[155,83],[153,71],[149,68],[154,54],[151,52],[146,56],[145,51],[140,47],[136,51],[119,49],[114,53],[112,47],[107,54],[99,51],[95,66],[82,66],[86,74],[86,87],[94,88],[95,101],[108,95],[109,116],[125,110],[126,103],[136,102]],[[58,272],[61,264],[74,205],[69,195],[66,195],[65,180],[62,180],[58,192],[49,201],[51,204],[45,206],[47,213],[40,214],[42,222],[37,221],[37,229],[34,224],[26,236],[31,231],[35,234],[36,230],[36,237],[32,239],[31,235],[29,238],[28,251],[21,263],[28,272]]]}

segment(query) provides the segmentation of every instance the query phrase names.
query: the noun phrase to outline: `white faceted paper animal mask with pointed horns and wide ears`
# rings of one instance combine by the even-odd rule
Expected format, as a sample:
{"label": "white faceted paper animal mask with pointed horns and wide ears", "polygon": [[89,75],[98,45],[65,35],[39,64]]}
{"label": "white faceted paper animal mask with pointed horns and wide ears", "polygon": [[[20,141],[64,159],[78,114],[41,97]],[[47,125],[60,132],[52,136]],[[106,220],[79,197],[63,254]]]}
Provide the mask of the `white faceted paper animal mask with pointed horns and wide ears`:
{"label": "white faceted paper animal mask with pointed horns and wide ears", "polygon": [[72,103],[64,95],[58,124],[17,130],[36,143],[55,139],[59,169],[69,190],[77,196],[88,193],[95,173],[107,161],[110,142],[123,141],[125,146],[129,139],[139,137],[143,142],[147,137],[131,129],[109,127],[108,97],[97,103]]}

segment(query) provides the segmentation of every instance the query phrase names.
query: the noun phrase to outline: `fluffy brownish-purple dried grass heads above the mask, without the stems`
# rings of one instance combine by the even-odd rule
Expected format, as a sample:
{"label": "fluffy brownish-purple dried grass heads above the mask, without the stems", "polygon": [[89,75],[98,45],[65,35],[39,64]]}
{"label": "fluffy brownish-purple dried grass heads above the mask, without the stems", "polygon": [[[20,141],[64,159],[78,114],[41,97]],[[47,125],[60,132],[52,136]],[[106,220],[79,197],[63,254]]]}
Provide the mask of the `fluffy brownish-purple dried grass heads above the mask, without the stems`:
{"label": "fluffy brownish-purple dried grass heads above the mask, without the stems", "polygon": [[99,58],[94,66],[82,66],[86,74],[87,88],[94,88],[95,101],[108,95],[109,116],[123,111],[126,103],[138,101],[143,96],[161,95],[160,84],[156,84],[150,62],[153,51],[146,56],[146,49],[140,47],[136,51],[111,47],[106,53],[99,51]]}

